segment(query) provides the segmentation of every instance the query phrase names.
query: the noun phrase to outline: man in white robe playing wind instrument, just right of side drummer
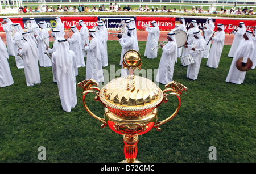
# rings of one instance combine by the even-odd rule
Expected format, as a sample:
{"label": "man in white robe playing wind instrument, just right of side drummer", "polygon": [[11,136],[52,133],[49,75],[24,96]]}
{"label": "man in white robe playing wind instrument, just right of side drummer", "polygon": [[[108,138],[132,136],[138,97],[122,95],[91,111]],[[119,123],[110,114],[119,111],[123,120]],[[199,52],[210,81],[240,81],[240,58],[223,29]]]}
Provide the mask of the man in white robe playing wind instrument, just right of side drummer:
{"label": "man in white robe playing wind instrument, just right of side drummer", "polygon": [[214,36],[210,37],[213,40],[212,47],[210,48],[209,57],[207,60],[207,66],[211,68],[217,68],[220,63],[220,57],[225,41],[224,25],[217,25],[217,32]]}

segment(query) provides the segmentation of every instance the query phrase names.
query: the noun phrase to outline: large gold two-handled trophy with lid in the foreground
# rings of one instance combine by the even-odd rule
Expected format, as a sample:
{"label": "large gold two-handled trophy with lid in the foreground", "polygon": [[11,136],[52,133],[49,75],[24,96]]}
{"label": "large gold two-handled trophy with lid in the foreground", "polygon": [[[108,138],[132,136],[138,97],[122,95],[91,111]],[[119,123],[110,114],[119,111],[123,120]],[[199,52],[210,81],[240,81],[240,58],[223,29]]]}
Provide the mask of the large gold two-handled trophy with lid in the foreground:
{"label": "large gold two-handled trophy with lid in the foreground", "polygon": [[[122,162],[139,162],[137,156],[138,135],[150,131],[152,128],[160,131],[159,126],[175,117],[181,104],[181,93],[187,87],[174,81],[166,84],[161,90],[151,80],[134,75],[135,69],[141,67],[141,54],[135,50],[127,51],[123,56],[123,68],[129,70],[129,75],[111,80],[101,90],[93,80],[84,80],[77,84],[83,90],[82,100],[86,111],[98,121],[101,128],[109,126],[115,133],[123,135],[125,159]],[[104,118],[93,114],[86,105],[86,95],[95,94],[95,100],[105,107]],[[166,120],[158,121],[158,107],[168,101],[168,96],[176,96],[177,108]]]}

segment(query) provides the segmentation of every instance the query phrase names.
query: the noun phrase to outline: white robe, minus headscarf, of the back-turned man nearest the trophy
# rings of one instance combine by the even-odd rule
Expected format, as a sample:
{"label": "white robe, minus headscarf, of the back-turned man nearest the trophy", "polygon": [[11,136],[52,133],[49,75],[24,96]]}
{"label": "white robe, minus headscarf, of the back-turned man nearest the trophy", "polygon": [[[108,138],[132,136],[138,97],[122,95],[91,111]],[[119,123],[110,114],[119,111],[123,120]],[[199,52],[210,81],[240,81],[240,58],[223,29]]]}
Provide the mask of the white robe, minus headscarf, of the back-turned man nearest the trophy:
{"label": "white robe, minus headscarf, of the back-turned man nearest the trophy", "polygon": [[72,108],[75,108],[77,104],[76,96],[76,76],[75,76],[75,65],[73,64],[76,59],[75,53],[71,50],[67,58],[71,59],[72,63],[68,64],[67,72],[63,72],[61,67],[57,65],[58,53],[52,53],[52,67],[55,70],[53,72],[54,77],[58,77],[57,85],[59,89],[61,106],[64,111],[71,112]]}

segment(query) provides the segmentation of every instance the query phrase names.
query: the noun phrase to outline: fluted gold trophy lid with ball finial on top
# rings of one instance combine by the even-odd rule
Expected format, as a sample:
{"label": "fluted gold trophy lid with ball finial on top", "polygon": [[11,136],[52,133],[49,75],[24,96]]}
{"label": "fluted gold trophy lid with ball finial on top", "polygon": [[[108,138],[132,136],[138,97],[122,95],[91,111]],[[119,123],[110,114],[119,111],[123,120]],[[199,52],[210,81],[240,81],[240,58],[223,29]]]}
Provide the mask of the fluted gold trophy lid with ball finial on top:
{"label": "fluted gold trophy lid with ball finial on top", "polygon": [[111,80],[99,94],[102,103],[121,110],[142,110],[156,107],[163,100],[163,91],[151,80],[133,74],[140,69],[141,55],[129,50],[123,56],[123,67],[129,75]]}

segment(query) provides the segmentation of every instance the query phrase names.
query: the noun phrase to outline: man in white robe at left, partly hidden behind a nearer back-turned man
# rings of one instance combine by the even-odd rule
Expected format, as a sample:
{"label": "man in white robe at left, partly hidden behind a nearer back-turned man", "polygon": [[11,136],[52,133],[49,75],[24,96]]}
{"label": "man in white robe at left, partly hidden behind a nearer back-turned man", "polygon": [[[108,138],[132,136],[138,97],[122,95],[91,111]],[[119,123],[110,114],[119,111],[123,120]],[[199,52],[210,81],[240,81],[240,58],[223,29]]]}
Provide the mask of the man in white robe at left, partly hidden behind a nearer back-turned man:
{"label": "man in white robe at left, partly hidden behind a nearer back-turned man", "polygon": [[22,57],[18,56],[18,53],[19,53],[19,48],[22,48],[22,45],[25,42],[22,36],[23,29],[19,23],[14,24],[14,29],[16,31],[13,39],[16,66],[18,69],[22,69],[24,68],[24,61]]}

